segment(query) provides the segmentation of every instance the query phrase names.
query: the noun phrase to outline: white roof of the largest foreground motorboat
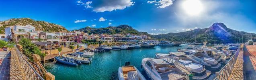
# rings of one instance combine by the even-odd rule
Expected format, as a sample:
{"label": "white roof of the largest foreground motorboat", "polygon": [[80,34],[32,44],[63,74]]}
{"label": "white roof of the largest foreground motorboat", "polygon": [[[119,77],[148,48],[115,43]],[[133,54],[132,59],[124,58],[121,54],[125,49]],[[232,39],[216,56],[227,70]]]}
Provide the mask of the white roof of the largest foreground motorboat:
{"label": "white roof of the largest foreground motorboat", "polygon": [[156,58],[152,59],[151,61],[154,62],[154,64],[170,64],[175,62],[176,60],[172,58]]}

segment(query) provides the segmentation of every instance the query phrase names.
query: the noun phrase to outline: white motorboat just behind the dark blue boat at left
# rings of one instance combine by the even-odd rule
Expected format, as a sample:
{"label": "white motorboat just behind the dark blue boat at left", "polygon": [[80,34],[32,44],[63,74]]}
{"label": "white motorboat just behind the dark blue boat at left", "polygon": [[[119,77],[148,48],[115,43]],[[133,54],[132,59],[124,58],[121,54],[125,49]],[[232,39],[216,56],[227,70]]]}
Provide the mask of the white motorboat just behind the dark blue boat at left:
{"label": "white motorboat just behind the dark blue boat at left", "polygon": [[78,61],[80,61],[82,63],[86,63],[86,64],[90,64],[92,62],[92,58],[83,58],[83,57],[80,57],[80,55],[72,56],[72,54],[70,54],[70,55],[62,54],[61,57],[62,58],[73,59],[73,60],[78,60]]}

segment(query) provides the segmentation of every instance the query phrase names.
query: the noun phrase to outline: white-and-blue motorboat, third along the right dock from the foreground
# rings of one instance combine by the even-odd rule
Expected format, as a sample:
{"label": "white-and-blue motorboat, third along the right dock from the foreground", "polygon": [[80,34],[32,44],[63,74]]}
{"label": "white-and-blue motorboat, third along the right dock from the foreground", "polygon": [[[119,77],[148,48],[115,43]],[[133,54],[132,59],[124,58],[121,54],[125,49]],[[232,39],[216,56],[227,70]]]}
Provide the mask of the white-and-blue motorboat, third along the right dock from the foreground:
{"label": "white-and-blue motorboat, third along the right dock from the foreground", "polygon": [[200,64],[205,65],[207,68],[217,69],[221,66],[217,60],[215,60],[213,57],[206,56],[202,51],[189,50],[184,53],[187,54],[190,58],[200,62]]}

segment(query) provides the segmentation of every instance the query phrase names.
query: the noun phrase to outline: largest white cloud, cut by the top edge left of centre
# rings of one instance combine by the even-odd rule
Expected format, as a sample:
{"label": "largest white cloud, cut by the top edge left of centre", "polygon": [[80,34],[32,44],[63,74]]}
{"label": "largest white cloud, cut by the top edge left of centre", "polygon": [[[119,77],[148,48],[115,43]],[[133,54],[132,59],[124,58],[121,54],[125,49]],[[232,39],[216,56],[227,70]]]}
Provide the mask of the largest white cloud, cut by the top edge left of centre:
{"label": "largest white cloud, cut by the top edge left of centre", "polygon": [[133,6],[135,2],[131,0],[100,0],[100,4],[96,4],[93,7],[94,12],[105,12],[113,10],[123,10],[127,7]]}

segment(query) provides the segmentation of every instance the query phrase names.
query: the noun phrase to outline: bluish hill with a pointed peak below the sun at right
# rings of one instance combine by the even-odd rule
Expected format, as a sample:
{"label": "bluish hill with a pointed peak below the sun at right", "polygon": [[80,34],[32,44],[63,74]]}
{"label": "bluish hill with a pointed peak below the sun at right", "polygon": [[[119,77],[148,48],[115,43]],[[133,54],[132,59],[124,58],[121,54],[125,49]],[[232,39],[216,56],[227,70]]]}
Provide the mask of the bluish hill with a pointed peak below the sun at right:
{"label": "bluish hill with a pointed peak below the sun at right", "polygon": [[209,28],[195,29],[186,32],[154,35],[154,38],[170,41],[203,42],[209,43],[236,43],[248,40],[250,36],[256,40],[256,34],[240,32],[227,28],[223,23],[214,23]]}

